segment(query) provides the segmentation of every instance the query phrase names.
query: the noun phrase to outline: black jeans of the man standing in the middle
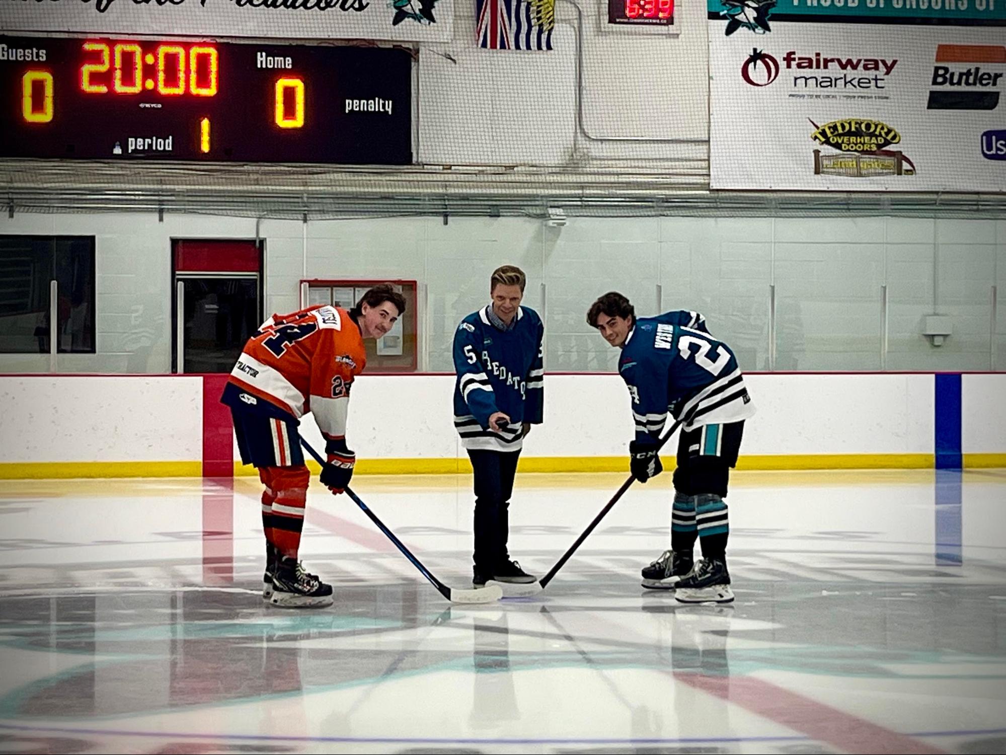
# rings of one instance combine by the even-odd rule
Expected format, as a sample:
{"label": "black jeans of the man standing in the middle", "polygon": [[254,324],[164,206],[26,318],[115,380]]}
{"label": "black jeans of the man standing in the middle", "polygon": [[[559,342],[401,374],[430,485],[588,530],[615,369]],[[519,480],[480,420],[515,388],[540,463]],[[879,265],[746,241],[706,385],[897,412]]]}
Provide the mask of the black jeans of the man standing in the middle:
{"label": "black jeans of the man standing in the middle", "polygon": [[503,564],[510,530],[508,508],[520,451],[468,450],[475,472],[475,568],[488,574]]}

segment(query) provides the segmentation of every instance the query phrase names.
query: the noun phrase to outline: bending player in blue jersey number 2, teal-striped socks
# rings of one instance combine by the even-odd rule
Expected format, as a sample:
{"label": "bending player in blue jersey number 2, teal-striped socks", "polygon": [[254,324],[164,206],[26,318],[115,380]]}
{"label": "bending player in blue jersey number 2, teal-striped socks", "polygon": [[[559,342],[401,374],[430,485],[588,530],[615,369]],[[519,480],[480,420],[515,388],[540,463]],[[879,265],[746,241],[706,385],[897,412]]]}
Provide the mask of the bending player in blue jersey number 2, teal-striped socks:
{"label": "bending player in blue jersey number 2, teal-striped socks", "polygon": [[663,470],[657,445],[668,413],[681,420],[671,549],[643,569],[643,587],[675,590],[682,603],[731,602],[723,499],[744,420],[754,414],[736,357],[709,334],[702,315],[678,311],[637,319],[629,299],[614,291],[591,306],[586,321],[622,349],[619,374],[636,425],[630,468],[640,482]]}

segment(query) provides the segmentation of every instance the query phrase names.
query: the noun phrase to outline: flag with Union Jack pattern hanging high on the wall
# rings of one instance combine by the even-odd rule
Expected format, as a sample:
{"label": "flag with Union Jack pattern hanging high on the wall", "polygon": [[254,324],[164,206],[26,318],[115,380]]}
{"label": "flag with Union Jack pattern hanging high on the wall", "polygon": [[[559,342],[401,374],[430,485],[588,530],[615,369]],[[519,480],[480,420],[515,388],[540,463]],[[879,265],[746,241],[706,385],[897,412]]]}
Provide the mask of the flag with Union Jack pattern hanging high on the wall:
{"label": "flag with Union Jack pattern hanging high on the wall", "polygon": [[475,38],[486,49],[551,49],[554,8],[554,0],[475,0]]}

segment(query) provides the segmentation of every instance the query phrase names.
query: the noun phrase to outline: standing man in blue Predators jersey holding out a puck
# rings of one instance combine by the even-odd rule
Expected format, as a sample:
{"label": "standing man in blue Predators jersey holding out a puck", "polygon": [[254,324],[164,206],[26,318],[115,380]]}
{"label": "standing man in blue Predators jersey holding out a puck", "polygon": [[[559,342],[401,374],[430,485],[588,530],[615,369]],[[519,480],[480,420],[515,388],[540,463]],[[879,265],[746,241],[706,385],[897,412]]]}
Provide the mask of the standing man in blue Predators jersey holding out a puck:
{"label": "standing man in blue Predators jersey holding out a puck", "polygon": [[526,283],[520,268],[498,268],[492,302],[454,334],[454,425],[475,472],[476,587],[487,580],[534,582],[507,551],[517,458],[531,425],[541,424],[544,402],[544,326],[533,309],[520,306]]}

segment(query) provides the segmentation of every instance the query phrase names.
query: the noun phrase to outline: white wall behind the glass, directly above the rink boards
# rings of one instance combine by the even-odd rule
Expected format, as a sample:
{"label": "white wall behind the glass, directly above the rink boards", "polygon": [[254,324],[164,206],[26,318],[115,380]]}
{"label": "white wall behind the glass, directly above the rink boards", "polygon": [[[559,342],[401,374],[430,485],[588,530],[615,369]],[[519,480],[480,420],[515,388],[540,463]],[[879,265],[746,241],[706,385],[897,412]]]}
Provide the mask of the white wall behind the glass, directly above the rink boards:
{"label": "white wall behind the glass, directly above the rink boards", "polygon": [[[265,220],[266,310],[298,305],[303,225]],[[97,354],[65,354],[60,371],[166,372],[171,363],[172,238],[255,238],[255,220],[155,214],[0,215],[0,234],[95,235]],[[703,312],[747,369],[768,366],[769,286],[778,295],[778,368],[879,366],[880,286],[889,292],[889,369],[988,369],[990,290],[999,287],[997,347],[1006,369],[1006,221],[911,218],[571,217],[562,229],[515,217],[368,218],[308,224],[310,278],[420,282],[420,367],[452,368],[465,314],[488,300],[498,265],[528,275],[539,311],[547,284],[546,364],[612,369],[615,353],[586,325],[617,289],[641,314]],[[934,288],[938,301],[934,307]],[[940,348],[920,335],[934,311],[953,318]],[[48,356],[0,354],[0,371],[46,371]]]}

